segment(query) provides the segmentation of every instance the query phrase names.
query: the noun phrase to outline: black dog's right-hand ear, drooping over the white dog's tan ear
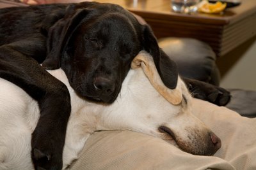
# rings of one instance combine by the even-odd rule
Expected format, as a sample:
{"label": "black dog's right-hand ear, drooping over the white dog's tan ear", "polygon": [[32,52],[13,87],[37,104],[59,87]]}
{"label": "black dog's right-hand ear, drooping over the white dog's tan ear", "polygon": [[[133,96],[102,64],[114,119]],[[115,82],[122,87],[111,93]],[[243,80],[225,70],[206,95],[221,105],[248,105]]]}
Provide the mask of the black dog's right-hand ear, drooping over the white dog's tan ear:
{"label": "black dog's right-hand ear, drooping over the white dog's tan ear", "polygon": [[152,55],[157,71],[164,85],[175,89],[178,81],[178,69],[176,63],[159,48],[156,37],[148,25],[143,25],[143,48]]}

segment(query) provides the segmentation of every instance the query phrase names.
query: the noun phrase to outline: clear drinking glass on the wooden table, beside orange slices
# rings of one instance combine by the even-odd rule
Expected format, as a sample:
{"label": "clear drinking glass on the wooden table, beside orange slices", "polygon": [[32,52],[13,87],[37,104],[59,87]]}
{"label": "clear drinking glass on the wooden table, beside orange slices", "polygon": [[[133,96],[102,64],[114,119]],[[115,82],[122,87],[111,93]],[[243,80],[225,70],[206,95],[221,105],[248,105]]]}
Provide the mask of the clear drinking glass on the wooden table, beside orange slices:
{"label": "clear drinking glass on the wooden table, beside orange slices", "polygon": [[172,10],[179,13],[191,13],[197,11],[200,0],[171,0]]}

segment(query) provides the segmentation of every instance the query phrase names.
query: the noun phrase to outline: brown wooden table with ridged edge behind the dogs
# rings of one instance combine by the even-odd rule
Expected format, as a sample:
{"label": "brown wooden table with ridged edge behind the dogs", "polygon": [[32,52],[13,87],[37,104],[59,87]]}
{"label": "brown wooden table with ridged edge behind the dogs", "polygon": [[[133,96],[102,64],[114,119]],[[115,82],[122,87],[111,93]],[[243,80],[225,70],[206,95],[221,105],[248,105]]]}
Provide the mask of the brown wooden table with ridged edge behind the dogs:
{"label": "brown wooden table with ridged edge behind the dogs", "polygon": [[205,41],[223,56],[256,34],[256,0],[242,0],[222,15],[174,13],[170,0],[96,0],[120,4],[143,17],[157,38],[189,37]]}

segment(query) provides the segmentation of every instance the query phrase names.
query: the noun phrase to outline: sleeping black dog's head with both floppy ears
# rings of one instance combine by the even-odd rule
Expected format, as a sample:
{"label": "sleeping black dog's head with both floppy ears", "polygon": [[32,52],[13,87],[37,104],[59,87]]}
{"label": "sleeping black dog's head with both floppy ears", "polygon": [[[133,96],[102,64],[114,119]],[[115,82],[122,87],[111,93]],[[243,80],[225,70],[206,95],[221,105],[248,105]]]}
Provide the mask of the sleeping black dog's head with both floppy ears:
{"label": "sleeping black dog's head with both floppy ears", "polygon": [[159,49],[147,25],[115,4],[71,4],[49,30],[48,54],[42,66],[61,67],[82,97],[112,103],[132,59],[146,50],[167,87],[177,84],[175,64]]}

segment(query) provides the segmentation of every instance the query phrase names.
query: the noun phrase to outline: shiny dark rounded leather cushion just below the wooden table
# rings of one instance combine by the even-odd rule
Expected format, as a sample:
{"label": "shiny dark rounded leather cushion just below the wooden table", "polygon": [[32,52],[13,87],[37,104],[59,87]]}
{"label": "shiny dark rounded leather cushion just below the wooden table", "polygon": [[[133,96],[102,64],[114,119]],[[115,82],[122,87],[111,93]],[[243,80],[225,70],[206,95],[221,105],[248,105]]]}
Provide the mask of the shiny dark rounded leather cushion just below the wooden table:
{"label": "shiny dark rounded leather cushion just below the wooden table", "polygon": [[177,63],[181,76],[219,85],[216,55],[206,43],[192,38],[163,38],[159,46]]}

